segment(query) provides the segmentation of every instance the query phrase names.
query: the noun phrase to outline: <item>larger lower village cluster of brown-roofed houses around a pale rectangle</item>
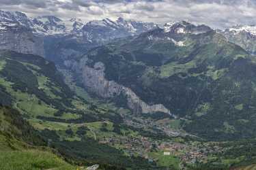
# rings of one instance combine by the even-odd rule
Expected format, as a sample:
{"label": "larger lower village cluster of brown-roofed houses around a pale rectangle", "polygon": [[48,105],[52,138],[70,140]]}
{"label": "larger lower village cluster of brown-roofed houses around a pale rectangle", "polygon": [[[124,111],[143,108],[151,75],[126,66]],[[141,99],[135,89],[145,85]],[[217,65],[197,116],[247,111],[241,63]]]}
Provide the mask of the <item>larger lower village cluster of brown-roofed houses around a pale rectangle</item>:
{"label": "larger lower village cluster of brown-roofed houses around a pale rectangle", "polygon": [[111,137],[105,138],[100,143],[107,143],[117,148],[122,148],[130,156],[141,156],[149,162],[157,162],[158,158],[151,157],[150,153],[158,152],[162,156],[175,156],[182,163],[206,163],[208,156],[223,152],[217,143],[199,141],[177,142],[158,141],[148,137]]}

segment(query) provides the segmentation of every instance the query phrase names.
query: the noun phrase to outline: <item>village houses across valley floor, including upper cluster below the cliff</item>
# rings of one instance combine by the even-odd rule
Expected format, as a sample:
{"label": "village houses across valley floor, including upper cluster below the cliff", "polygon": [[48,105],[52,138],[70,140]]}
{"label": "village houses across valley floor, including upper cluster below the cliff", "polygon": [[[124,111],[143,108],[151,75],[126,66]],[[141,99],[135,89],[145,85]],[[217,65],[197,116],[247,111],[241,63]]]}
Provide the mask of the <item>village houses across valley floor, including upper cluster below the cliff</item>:
{"label": "village houses across valley floor, including upper cluster below the cliff", "polygon": [[[144,122],[141,123],[141,121]],[[139,118],[137,121],[131,121],[127,116],[126,124],[152,132],[160,127],[159,122]],[[185,133],[175,131],[169,126],[162,126],[161,130],[171,134],[169,138],[157,139],[143,137],[143,135],[121,135],[103,137],[99,139],[99,142],[124,150],[127,156],[141,156],[152,163],[157,163],[160,158],[168,160],[168,158],[173,157],[185,164],[207,163],[211,156],[220,154],[224,150],[218,142],[186,141]]]}

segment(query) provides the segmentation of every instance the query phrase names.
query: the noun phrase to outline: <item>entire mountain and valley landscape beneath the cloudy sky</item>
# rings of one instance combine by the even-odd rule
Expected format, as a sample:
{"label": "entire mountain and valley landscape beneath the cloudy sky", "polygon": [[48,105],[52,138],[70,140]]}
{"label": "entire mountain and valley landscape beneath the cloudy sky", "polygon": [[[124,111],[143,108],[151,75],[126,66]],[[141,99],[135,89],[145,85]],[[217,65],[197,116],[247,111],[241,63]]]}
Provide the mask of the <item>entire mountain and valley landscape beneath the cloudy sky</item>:
{"label": "entire mountain and valley landscape beneath the cloudy sky", "polygon": [[0,11],[0,148],[49,155],[32,169],[254,167],[255,37]]}

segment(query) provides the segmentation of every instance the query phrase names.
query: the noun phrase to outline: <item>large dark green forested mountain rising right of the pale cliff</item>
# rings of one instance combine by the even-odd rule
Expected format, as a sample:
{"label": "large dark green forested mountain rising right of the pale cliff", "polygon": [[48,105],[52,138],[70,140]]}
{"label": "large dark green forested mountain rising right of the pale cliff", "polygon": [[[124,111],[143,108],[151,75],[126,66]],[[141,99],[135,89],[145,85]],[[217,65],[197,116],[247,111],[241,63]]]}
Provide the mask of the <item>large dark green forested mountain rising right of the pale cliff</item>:
{"label": "large dark green forested mountain rising right of the pale cliff", "polygon": [[212,140],[255,137],[255,59],[215,31],[155,29],[84,57],[89,66],[104,63],[108,80],[185,118],[190,133]]}

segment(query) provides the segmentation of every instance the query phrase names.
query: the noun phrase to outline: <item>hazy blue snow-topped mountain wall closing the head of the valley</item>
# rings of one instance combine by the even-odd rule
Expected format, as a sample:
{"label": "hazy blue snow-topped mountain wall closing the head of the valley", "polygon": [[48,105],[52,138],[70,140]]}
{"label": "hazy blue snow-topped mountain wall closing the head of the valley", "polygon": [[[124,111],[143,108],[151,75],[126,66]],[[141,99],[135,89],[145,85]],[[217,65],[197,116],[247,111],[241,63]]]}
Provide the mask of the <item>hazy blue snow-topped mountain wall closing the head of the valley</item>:
{"label": "hazy blue snow-topped mountain wall closing the head of the valley", "polygon": [[[44,20],[40,19],[44,21],[38,22],[43,29],[37,29],[37,33],[45,36],[44,50],[48,59],[61,66],[67,60],[79,58],[91,48],[107,44],[113,39],[139,35],[154,28],[154,23],[135,22],[123,18],[106,18],[87,23],[76,18],[69,21],[55,18],[50,22],[48,18],[49,16],[47,20],[45,17]],[[45,28],[48,28],[48,31],[44,31]]]}

